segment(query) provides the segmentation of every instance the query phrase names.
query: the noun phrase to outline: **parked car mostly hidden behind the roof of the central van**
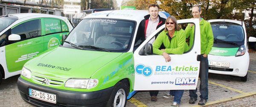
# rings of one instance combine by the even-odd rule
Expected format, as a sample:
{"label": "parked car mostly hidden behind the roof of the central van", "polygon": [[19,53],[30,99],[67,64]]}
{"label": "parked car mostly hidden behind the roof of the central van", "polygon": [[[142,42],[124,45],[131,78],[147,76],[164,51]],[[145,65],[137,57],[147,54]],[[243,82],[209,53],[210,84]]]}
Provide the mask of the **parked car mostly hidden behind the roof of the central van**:
{"label": "parked car mostly hidden behind the roof of the central van", "polygon": [[81,11],[80,14],[76,14],[73,16],[73,23],[74,23],[74,25],[77,25],[79,23],[79,21],[83,19],[83,17],[85,17],[89,14],[92,14],[94,12],[106,11],[106,10],[113,10],[113,9],[95,8],[95,9],[83,10],[83,11]]}

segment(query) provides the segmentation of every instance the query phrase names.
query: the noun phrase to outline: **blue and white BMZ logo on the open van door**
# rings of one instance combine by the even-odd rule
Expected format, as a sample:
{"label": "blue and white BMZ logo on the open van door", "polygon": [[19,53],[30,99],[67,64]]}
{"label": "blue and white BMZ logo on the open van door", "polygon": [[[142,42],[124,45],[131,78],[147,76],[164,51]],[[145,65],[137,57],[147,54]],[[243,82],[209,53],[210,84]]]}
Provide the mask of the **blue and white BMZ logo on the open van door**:
{"label": "blue and white BMZ logo on the open van door", "polygon": [[195,78],[176,78],[175,85],[195,85]]}

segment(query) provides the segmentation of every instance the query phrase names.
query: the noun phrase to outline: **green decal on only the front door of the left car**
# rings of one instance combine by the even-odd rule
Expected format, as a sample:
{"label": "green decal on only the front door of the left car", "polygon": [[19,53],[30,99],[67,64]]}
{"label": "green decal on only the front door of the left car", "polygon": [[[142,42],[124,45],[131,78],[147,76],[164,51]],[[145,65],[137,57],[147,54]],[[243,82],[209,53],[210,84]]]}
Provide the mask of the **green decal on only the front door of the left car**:
{"label": "green decal on only the front door of the left car", "polygon": [[43,37],[24,40],[6,45],[6,63],[9,72],[21,70],[23,65],[38,53],[43,52]]}

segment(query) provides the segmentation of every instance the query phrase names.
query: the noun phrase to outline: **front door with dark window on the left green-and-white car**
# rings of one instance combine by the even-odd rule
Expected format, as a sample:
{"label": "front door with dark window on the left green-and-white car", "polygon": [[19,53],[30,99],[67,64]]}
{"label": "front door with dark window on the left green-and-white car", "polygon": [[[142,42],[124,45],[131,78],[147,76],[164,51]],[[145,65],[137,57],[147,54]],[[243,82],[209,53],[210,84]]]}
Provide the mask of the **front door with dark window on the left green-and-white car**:
{"label": "front door with dark window on the left green-and-white car", "polygon": [[11,28],[11,34],[20,35],[19,41],[7,41],[6,64],[9,72],[21,70],[31,58],[43,52],[41,20],[27,20]]}

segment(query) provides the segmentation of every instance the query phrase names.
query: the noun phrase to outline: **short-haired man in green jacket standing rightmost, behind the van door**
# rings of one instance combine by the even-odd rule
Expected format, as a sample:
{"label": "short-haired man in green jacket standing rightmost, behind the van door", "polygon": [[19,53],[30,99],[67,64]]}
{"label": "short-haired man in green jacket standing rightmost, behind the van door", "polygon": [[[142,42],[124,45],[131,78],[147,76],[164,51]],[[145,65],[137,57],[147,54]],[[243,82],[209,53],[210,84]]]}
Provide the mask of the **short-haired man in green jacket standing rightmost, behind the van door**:
{"label": "short-haired man in green jacket standing rightmost, behind the van door", "polygon": [[[199,77],[200,77],[200,101],[198,105],[205,105],[208,100],[208,54],[212,49],[213,45],[213,34],[212,34],[212,27],[211,24],[201,18],[201,7],[200,6],[193,6],[192,8],[192,15],[194,19],[198,19],[200,21],[200,37],[201,37],[201,56],[200,56],[200,70],[199,70]],[[185,51],[189,51],[194,42],[194,33],[195,33],[195,26],[194,24],[188,24],[185,29],[186,38],[190,37],[189,39],[189,47],[185,48]],[[197,101],[197,89],[189,90],[189,104],[195,104]]]}

